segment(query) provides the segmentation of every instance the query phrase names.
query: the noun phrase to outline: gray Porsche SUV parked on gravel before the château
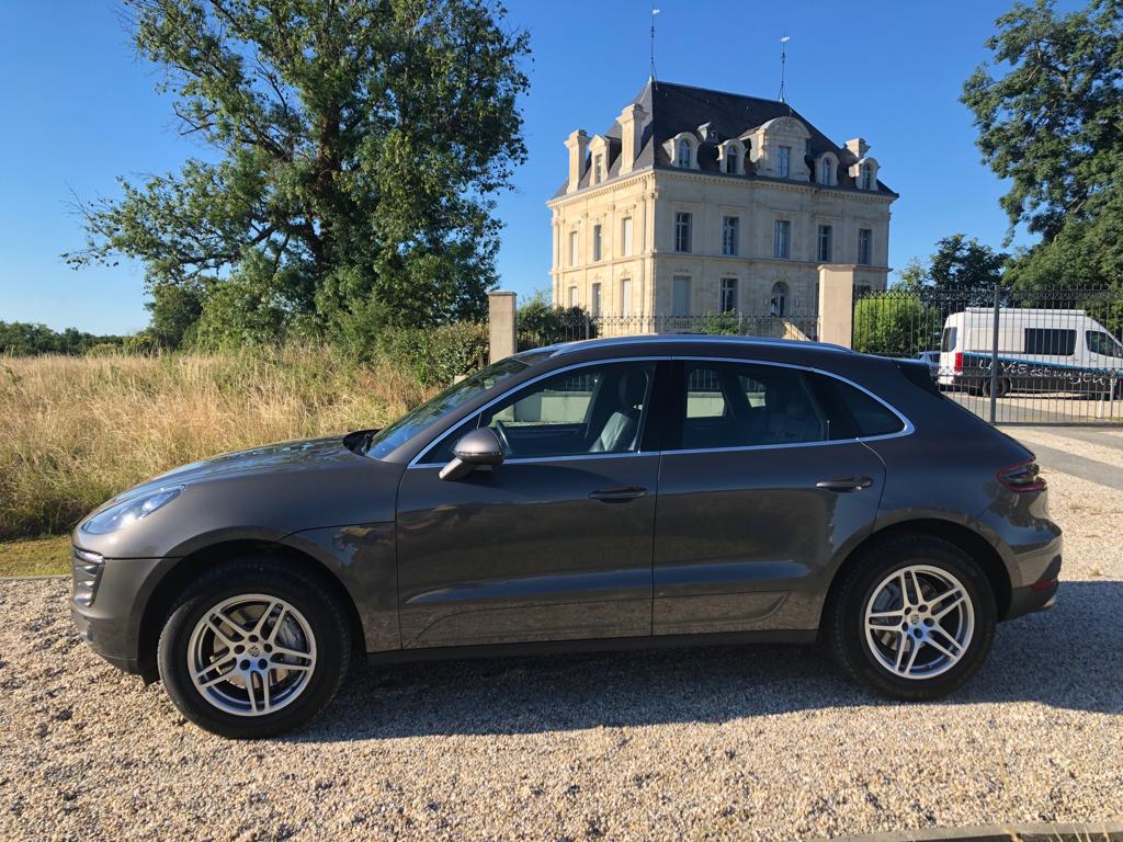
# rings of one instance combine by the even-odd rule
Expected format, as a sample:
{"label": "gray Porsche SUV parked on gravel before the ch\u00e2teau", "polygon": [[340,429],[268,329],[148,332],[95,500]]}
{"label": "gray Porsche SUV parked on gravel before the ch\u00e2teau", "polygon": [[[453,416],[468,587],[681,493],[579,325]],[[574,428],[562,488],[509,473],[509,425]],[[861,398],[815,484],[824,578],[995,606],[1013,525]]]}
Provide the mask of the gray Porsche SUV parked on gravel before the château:
{"label": "gray Porsche SUV parked on gravel before the ch\u00e2teau", "polygon": [[1033,455],[926,366],[637,337],[484,368],[381,430],[188,465],[74,530],[74,622],[265,736],[372,661],[823,641],[928,699],[1061,564]]}

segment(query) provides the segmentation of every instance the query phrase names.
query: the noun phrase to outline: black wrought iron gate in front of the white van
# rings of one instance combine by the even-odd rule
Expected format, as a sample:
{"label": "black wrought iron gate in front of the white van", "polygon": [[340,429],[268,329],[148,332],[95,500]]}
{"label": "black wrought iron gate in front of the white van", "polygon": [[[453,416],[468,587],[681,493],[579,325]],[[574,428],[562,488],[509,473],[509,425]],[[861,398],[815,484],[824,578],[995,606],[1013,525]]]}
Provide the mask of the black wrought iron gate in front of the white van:
{"label": "black wrought iron gate in front of the white van", "polygon": [[1123,290],[893,289],[859,295],[855,350],[928,363],[990,423],[1123,423]]}

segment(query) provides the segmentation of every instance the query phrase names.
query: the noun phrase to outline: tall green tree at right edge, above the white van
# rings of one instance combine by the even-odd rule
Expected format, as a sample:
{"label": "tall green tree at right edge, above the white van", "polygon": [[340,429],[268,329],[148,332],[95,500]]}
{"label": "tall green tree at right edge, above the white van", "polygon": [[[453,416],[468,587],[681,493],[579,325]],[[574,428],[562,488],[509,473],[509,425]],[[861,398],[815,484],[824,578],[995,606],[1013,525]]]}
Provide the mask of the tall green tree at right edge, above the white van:
{"label": "tall green tree at right edge, above the white van", "polygon": [[1017,3],[986,43],[962,101],[984,159],[1011,187],[1011,229],[1040,236],[1010,266],[1020,287],[1120,284],[1123,278],[1123,4],[1094,0],[1058,15]]}

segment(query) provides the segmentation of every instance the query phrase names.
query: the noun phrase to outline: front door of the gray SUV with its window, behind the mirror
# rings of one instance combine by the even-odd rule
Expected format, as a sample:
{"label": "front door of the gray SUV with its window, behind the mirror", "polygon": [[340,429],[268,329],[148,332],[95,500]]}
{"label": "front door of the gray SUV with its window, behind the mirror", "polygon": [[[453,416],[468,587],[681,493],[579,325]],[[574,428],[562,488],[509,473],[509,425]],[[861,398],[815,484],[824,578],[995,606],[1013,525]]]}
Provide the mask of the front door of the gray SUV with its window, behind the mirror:
{"label": "front door of the gray SUV with its window, behind the mirror", "polygon": [[[405,648],[651,633],[658,454],[643,451],[656,364],[549,375],[462,423],[403,475]],[[504,461],[448,482],[456,440],[491,427]]]}

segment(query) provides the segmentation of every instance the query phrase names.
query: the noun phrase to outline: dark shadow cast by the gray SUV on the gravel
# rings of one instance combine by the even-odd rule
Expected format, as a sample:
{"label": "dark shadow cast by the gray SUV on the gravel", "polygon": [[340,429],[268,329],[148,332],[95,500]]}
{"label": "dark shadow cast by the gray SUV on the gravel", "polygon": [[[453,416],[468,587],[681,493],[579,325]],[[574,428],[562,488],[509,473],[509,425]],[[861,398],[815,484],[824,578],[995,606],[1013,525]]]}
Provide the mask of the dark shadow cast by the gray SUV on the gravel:
{"label": "dark shadow cast by the gray SUV on the gravel", "polygon": [[[1057,607],[998,626],[940,706],[1038,702],[1123,713],[1123,583],[1062,583]],[[298,742],[720,723],[901,703],[846,680],[820,648],[743,646],[369,666]]]}

